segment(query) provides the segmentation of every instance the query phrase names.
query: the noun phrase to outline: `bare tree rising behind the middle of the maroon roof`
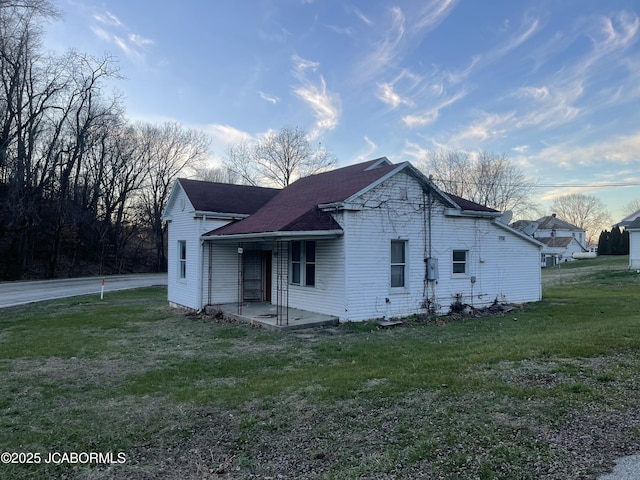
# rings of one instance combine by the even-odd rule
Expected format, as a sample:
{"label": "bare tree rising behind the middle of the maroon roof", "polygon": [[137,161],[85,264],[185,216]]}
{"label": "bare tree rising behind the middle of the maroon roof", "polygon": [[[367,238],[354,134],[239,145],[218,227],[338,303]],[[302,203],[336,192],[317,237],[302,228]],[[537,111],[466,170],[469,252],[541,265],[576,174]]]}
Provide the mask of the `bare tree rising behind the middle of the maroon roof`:
{"label": "bare tree rising behind the middle of the maroon roof", "polygon": [[227,151],[225,165],[243,183],[286,187],[301,177],[330,170],[336,158],[321,145],[314,146],[304,130],[284,127],[270,132],[253,148],[246,143]]}

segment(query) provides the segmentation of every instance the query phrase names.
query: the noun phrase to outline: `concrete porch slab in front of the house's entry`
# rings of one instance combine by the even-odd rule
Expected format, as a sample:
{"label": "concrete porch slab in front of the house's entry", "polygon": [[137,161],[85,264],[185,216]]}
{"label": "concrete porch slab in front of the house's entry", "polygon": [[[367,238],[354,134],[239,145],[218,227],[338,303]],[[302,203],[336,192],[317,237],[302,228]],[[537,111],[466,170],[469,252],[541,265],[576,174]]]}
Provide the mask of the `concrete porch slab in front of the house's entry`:
{"label": "concrete porch slab in front of the house's entry", "polygon": [[[238,304],[225,303],[213,305],[212,310],[222,310],[224,315],[241,322],[252,325],[261,325],[272,330],[300,330],[303,328],[329,327],[338,325],[338,317],[324,315],[322,313],[309,312],[298,308],[289,308],[287,323],[286,318],[283,324],[278,324],[277,307],[264,302],[245,302],[242,304],[242,313],[238,313]],[[286,317],[286,316],[285,316]]]}

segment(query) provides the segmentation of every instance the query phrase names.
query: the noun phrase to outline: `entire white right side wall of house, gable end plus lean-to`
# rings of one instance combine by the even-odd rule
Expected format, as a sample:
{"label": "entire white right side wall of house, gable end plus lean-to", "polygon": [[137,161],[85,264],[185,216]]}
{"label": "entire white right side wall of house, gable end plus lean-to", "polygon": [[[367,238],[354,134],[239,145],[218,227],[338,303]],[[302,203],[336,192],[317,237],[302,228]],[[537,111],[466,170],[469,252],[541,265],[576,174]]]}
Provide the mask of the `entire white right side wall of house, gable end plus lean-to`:
{"label": "entire white right side wall of house, gable end plus lean-to", "polygon": [[[425,282],[429,256],[428,210],[422,188],[400,173],[362,197],[362,210],[342,221],[347,258],[346,312],[341,320],[405,316],[425,311],[431,301],[445,313],[463,303],[494,300],[528,302],[541,298],[539,248],[490,218],[447,217],[441,203],[431,211],[431,256],[438,259],[437,282]],[[407,241],[408,285],[390,288],[391,240]],[[453,274],[453,250],[468,251],[467,272]],[[475,277],[475,282],[472,282]]]}

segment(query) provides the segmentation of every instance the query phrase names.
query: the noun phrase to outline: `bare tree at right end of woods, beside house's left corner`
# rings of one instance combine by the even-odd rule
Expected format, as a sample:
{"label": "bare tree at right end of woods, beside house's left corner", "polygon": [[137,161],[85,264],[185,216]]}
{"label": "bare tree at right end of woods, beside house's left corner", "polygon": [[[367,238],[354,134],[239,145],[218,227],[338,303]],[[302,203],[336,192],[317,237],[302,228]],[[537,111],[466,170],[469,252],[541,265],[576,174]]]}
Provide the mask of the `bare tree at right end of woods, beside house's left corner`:
{"label": "bare tree at right end of woods, beside house's left corner", "polygon": [[166,269],[166,225],[162,212],[173,182],[188,168],[199,167],[208,156],[204,133],[185,129],[176,122],[139,126],[139,155],[146,175],[140,195],[141,220],[152,232],[156,246],[156,270]]}

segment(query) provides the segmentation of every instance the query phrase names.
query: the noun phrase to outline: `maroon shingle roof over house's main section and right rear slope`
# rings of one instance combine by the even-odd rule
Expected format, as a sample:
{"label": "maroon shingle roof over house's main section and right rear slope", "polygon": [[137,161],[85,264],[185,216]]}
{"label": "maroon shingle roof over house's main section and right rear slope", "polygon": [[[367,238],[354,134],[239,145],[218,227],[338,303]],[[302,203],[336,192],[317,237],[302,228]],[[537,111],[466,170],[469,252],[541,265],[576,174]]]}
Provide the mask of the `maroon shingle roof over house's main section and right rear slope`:
{"label": "maroon shingle roof over house's main section and right rear slope", "polygon": [[[392,164],[382,157],[301,178],[282,189],[253,215],[213,230],[206,236],[341,230],[333,216],[320,208],[321,205],[348,201],[405,168],[422,175],[408,163]],[[448,195],[447,199],[453,202],[452,206],[457,204],[463,210],[496,211],[454,195]]]}

